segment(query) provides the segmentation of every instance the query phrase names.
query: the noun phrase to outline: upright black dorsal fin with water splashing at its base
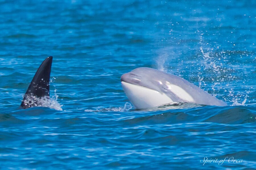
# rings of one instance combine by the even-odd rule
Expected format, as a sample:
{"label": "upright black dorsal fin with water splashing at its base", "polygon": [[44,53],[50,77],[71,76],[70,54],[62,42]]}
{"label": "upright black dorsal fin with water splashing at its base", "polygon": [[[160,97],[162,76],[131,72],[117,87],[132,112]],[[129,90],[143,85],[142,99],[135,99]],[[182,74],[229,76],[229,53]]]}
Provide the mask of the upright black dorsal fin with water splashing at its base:
{"label": "upright black dorsal fin with water splashing at its base", "polygon": [[52,56],[46,58],[34,75],[28,90],[23,97],[21,107],[24,109],[39,106],[37,99],[50,96],[49,81],[51,74]]}

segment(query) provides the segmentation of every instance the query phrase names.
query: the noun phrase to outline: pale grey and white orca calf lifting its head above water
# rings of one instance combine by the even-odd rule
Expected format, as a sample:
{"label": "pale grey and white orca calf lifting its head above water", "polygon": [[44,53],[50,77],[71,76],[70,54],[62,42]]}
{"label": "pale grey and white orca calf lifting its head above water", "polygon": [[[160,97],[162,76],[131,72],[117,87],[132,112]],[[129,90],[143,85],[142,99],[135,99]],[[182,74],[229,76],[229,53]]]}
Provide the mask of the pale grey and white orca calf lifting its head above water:
{"label": "pale grey and white orca calf lifting its head above water", "polygon": [[176,75],[140,67],[121,76],[128,99],[137,109],[172,103],[226,106],[226,103]]}

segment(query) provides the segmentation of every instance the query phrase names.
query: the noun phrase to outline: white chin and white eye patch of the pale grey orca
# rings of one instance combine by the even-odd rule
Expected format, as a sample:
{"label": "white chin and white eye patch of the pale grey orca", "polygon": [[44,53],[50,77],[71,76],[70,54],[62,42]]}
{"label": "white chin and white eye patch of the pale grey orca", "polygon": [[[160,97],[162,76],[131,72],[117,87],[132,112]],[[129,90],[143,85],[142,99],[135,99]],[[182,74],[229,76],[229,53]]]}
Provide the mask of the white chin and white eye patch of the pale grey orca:
{"label": "white chin and white eye patch of the pale grey orca", "polygon": [[[137,109],[146,109],[169,103],[177,103],[174,102],[166,94],[160,93],[156,90],[123,81],[121,84],[128,99]],[[191,95],[189,95],[179,86],[168,84],[168,88],[179,98],[190,103],[194,102],[194,99],[191,97]]]}

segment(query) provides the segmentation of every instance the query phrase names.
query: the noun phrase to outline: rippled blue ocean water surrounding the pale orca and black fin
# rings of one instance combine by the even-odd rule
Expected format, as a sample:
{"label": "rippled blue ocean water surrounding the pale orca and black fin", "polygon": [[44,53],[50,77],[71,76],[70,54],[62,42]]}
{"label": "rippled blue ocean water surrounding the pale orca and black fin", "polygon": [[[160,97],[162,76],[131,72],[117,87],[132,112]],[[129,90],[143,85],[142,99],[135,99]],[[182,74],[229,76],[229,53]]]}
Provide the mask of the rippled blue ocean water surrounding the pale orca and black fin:
{"label": "rippled blue ocean water surrounding the pale orca and black fin", "polygon": [[[0,0],[0,9],[2,169],[256,167],[255,1]],[[51,102],[19,109],[48,56]],[[228,106],[136,110],[120,77],[137,67]]]}

